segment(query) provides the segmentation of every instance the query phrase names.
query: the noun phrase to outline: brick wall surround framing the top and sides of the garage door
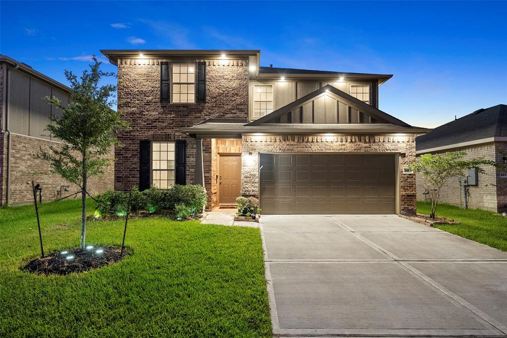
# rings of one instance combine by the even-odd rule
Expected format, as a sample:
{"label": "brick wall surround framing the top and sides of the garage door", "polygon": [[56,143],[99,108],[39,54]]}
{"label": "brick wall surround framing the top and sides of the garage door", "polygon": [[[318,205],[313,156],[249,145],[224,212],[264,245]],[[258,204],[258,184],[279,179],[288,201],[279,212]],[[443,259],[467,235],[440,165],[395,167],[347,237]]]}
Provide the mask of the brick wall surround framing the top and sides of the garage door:
{"label": "brick wall surround framing the top and sides of the garage door", "polygon": [[[416,209],[415,175],[402,175],[402,167],[415,160],[413,136],[244,136],[241,193],[259,196],[259,152],[380,152],[400,156],[400,203],[402,214]],[[248,153],[251,152],[252,156]]]}

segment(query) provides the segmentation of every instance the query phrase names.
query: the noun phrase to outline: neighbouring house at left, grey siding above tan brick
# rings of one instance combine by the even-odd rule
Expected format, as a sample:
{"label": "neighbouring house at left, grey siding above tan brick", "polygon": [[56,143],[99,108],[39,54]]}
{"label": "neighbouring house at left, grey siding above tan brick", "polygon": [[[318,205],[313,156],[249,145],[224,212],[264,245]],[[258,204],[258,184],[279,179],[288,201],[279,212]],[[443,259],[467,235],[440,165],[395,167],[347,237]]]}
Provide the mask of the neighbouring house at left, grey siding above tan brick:
{"label": "neighbouring house at left, grey siding above tan brick", "polygon": [[[32,180],[40,184],[46,201],[79,189],[59,175],[49,174],[48,163],[32,156],[40,147],[61,144],[44,130],[51,123],[51,115],[61,114],[44,97],[56,96],[67,105],[69,93],[70,88],[29,65],[0,55],[0,206],[33,202],[31,184],[27,184]],[[111,152],[108,157],[113,155]],[[113,174],[111,167],[103,177],[90,179],[90,193],[113,189]]]}

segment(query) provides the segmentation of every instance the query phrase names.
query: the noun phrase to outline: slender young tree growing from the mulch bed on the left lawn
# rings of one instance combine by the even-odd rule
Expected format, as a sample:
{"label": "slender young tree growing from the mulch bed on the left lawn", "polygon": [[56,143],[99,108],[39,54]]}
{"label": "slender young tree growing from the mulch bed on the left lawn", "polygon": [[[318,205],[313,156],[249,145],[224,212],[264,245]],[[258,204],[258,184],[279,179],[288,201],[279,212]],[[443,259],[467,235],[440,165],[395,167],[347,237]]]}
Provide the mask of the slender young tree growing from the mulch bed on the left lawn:
{"label": "slender young tree growing from the mulch bed on the left lawn", "polygon": [[70,103],[64,107],[56,97],[46,97],[49,104],[63,111],[62,116],[51,116],[52,124],[46,126],[51,137],[58,138],[63,144],[51,146],[49,151],[40,148],[36,158],[48,161],[52,173],[59,174],[69,182],[81,188],[81,248],[85,248],[86,238],[86,195],[87,181],[90,177],[100,176],[110,165],[104,155],[111,146],[120,142],[114,132],[127,128],[121,119],[122,114],[112,109],[115,85],[100,85],[105,77],[116,76],[100,70],[98,59],[93,56],[90,69],[83,71],[78,78],[73,72],[65,71],[65,78],[72,89]]}

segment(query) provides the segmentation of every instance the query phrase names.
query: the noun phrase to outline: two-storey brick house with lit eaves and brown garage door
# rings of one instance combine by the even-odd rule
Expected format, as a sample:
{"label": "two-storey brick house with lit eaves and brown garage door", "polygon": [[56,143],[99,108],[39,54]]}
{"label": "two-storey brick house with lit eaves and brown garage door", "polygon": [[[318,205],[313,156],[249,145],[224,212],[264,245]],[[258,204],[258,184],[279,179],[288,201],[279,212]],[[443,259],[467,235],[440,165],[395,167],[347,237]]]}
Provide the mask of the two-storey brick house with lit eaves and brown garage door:
{"label": "two-storey brick house with lit eaves and brown garage door", "polygon": [[202,184],[207,209],[413,214],[413,127],[378,109],[392,75],[260,67],[259,50],[103,50],[118,66],[115,188]]}

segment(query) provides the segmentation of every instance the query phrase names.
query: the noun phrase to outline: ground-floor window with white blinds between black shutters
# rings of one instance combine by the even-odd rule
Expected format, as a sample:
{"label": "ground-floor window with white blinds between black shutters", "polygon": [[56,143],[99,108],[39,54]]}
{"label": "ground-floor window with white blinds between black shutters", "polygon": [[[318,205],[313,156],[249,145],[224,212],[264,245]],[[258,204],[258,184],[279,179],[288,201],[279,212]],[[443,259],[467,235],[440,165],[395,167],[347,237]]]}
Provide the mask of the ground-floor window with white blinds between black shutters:
{"label": "ground-floor window with white blinds between black shutters", "polygon": [[174,185],[174,142],[152,142],[152,185],[168,189]]}

